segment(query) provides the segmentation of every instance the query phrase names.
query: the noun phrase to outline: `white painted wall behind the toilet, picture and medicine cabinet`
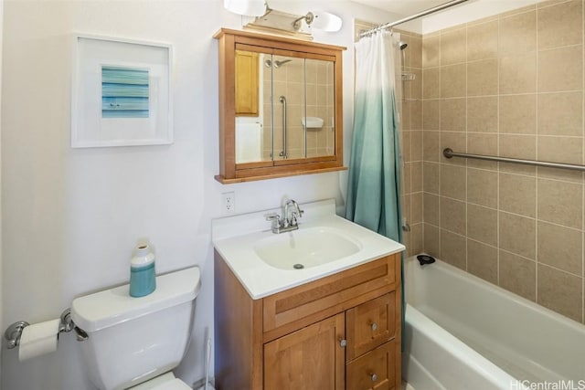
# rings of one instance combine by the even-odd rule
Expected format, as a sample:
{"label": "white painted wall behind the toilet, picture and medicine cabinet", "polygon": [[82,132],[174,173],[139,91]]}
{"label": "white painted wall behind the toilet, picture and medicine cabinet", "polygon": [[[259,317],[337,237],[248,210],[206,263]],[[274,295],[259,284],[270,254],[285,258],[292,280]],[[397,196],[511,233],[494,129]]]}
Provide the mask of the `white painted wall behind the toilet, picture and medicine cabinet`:
{"label": "white painted wall behind the toilet, picture and medicine cabinet", "polygon": [[[344,56],[345,150],[353,97],[352,19],[388,15],[342,1],[274,1],[288,12],[335,12],[345,26],[315,40],[350,47]],[[239,27],[219,0],[9,1],[4,10],[2,86],[2,330],[17,320],[57,317],[71,300],[125,282],[136,239],[156,248],[157,271],[199,265],[193,343],[177,373],[203,375],[203,346],[213,328],[210,221],[220,194],[234,191],[236,211],[335,198],[343,208],[346,174],[313,174],[246,184],[218,184],[218,53],[221,26]],[[175,48],[175,143],[71,149],[69,100],[73,32],[153,40]],[[19,363],[3,349],[5,390],[93,388],[72,334],[56,353]]]}

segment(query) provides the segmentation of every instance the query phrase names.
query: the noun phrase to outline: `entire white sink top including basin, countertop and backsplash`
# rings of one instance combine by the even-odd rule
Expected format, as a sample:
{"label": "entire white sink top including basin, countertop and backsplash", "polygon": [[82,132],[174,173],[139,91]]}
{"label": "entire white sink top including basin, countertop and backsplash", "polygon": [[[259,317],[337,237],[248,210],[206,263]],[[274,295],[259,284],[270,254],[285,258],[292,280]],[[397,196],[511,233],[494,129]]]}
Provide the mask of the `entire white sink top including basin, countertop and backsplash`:
{"label": "entire white sink top including basin, countertop and backsplash", "polygon": [[[254,300],[398,253],[404,246],[335,215],[335,200],[301,205],[299,229],[273,234],[282,208],[214,219],[213,245]],[[216,258],[218,261],[218,258]],[[295,269],[294,265],[300,264]]]}

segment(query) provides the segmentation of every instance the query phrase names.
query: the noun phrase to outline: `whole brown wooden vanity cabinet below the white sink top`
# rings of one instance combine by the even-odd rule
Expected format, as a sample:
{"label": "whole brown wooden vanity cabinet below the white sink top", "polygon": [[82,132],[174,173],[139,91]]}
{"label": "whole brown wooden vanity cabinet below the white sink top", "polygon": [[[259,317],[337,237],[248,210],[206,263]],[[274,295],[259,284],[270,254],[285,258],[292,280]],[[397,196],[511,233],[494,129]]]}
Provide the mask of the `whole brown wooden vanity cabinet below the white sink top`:
{"label": "whole brown wooden vanity cabinet below the white sink top", "polygon": [[257,300],[215,256],[218,390],[399,390],[399,254]]}

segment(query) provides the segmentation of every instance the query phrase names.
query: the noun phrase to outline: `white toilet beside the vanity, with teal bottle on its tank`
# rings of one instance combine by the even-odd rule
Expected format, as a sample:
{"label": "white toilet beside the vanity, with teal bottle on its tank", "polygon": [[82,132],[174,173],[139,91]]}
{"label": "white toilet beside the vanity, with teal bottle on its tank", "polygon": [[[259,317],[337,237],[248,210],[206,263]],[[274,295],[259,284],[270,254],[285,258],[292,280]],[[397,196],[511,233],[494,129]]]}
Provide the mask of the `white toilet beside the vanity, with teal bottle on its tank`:
{"label": "white toilet beside the vanity, with teal bottle on its tank", "polygon": [[191,389],[171,372],[186,353],[201,288],[198,267],[156,277],[156,290],[133,298],[129,286],[71,304],[82,364],[101,390]]}

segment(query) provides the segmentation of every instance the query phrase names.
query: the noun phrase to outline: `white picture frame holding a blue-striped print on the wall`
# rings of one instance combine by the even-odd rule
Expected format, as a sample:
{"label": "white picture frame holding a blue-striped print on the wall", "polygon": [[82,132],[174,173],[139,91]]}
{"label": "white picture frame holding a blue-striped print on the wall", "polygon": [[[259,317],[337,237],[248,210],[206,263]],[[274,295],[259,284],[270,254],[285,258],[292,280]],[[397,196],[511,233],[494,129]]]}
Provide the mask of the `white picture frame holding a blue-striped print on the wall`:
{"label": "white picture frame holding a blue-striped print on the wall", "polygon": [[165,43],[76,34],[71,147],[173,143],[172,58]]}

